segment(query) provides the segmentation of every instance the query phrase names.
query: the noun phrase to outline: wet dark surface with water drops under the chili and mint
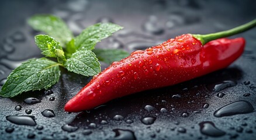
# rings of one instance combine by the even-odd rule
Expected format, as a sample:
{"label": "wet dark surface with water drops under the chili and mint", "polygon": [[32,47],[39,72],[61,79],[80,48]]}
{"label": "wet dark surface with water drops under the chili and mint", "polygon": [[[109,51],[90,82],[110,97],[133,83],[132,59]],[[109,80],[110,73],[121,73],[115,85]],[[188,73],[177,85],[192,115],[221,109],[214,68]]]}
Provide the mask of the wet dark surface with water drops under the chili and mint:
{"label": "wet dark surface with water drops under the chili and mint", "polygon": [[[97,47],[130,52],[183,33],[230,29],[256,17],[255,1],[45,0],[1,1],[0,5],[0,86],[20,62],[41,57],[33,41],[39,33],[26,24],[35,13],[62,17],[74,34],[97,22],[120,24],[124,29]],[[254,139],[256,29],[236,36],[245,37],[247,45],[229,68],[115,99],[82,113],[67,113],[64,104],[91,78],[61,69],[60,81],[50,89],[52,94],[41,90],[12,99],[0,97],[0,139]],[[26,104],[29,97],[38,103]],[[235,107],[238,113],[213,115],[235,101],[240,101]],[[244,110],[244,105],[237,103],[249,108]],[[51,117],[42,113],[45,110]]]}

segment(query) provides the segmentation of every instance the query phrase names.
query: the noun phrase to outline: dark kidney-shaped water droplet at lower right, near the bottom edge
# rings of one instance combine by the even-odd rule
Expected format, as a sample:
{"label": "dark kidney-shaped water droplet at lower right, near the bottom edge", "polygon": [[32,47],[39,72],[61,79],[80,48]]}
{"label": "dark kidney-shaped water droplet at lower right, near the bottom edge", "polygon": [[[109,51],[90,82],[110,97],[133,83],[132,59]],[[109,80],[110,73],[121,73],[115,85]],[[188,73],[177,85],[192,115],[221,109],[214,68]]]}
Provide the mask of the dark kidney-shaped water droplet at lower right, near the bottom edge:
{"label": "dark kidney-shaped water droplet at lower right, near the bottom edge", "polygon": [[208,136],[223,136],[226,134],[226,132],[218,129],[215,127],[215,124],[210,121],[203,121],[199,123],[200,126],[200,132],[202,134],[208,135]]}

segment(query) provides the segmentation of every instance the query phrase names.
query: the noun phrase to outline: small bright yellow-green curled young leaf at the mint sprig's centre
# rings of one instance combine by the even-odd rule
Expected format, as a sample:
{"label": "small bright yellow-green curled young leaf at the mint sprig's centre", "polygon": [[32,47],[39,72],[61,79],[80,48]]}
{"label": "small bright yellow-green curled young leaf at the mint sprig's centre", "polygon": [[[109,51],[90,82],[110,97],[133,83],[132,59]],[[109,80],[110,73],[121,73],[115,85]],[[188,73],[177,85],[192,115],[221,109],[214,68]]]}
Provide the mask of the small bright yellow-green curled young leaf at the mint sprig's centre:
{"label": "small bright yellow-green curled young leaf at the mint sprig's centre", "polygon": [[53,37],[48,35],[37,35],[34,37],[36,45],[42,51],[41,54],[46,55],[46,57],[56,57],[58,62],[65,62],[65,55],[60,43],[56,41]]}

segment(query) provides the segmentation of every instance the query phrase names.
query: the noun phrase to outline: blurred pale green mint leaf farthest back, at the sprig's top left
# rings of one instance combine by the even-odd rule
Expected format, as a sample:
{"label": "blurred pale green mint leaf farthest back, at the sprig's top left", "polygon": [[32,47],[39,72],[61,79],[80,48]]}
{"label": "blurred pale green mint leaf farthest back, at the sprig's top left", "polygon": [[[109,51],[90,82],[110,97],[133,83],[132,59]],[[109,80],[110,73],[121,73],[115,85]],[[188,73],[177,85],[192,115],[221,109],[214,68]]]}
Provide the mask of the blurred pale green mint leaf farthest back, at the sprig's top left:
{"label": "blurred pale green mint leaf farthest back, at the sprig's top left", "polygon": [[50,36],[60,41],[61,46],[65,47],[66,43],[74,38],[70,29],[65,22],[53,15],[34,15],[27,22],[34,30],[44,31]]}

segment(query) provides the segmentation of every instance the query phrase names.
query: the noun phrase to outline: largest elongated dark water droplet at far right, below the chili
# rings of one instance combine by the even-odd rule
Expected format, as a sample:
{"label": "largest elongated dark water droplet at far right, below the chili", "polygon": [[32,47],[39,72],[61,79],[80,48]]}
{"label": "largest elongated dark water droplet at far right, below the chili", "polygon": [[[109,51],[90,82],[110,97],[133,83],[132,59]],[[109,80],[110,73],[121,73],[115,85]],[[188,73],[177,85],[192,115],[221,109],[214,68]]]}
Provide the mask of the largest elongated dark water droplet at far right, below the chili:
{"label": "largest elongated dark water droplet at far right, below the chili", "polygon": [[254,107],[248,101],[240,100],[227,104],[226,106],[219,108],[213,115],[215,117],[223,117],[236,114],[251,113],[254,111]]}

